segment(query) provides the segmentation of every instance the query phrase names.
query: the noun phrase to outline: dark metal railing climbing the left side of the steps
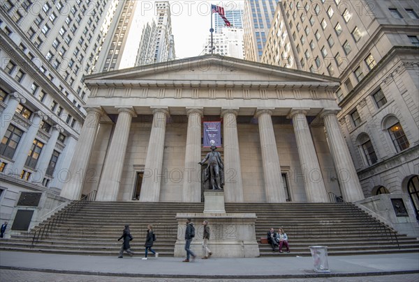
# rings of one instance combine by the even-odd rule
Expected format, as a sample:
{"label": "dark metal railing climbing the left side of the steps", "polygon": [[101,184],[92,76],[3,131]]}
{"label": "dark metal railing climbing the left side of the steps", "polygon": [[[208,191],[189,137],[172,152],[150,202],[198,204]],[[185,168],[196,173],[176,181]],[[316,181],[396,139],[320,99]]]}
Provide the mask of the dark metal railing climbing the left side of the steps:
{"label": "dark metal railing climbing the left side of the steps", "polygon": [[48,235],[50,235],[54,227],[68,219],[68,217],[73,216],[75,212],[78,212],[87,203],[94,201],[95,198],[96,190],[91,191],[86,196],[83,196],[79,201],[73,201],[73,203],[71,203],[67,207],[64,207],[63,210],[60,210],[45,224],[36,228],[36,230],[34,230],[34,237],[32,238],[31,247],[34,247],[34,245],[37,244],[38,241],[43,240],[44,237],[48,237]]}

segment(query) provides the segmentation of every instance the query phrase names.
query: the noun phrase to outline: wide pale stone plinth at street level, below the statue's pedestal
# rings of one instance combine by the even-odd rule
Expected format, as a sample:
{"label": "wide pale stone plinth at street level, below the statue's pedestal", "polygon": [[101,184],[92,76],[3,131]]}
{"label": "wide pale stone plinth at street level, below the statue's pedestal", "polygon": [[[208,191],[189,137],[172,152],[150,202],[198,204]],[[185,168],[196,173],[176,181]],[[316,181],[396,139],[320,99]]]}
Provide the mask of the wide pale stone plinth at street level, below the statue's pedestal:
{"label": "wide pale stone plinth at street level, below the statue's pedestal", "polygon": [[197,258],[203,256],[203,221],[210,226],[210,240],[208,247],[212,257],[216,258],[255,258],[259,256],[259,246],[256,241],[254,213],[178,213],[177,241],[175,257],[186,257],[185,230],[186,219],[191,218],[195,226],[195,238],[191,243],[191,250]]}

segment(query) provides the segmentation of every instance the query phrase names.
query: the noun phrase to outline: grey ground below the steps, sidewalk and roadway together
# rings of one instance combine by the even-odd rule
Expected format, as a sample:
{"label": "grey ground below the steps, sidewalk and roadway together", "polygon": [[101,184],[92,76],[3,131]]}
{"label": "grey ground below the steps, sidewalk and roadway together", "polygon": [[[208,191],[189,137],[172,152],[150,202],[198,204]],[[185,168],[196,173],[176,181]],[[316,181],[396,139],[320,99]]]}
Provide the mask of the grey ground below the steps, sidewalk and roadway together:
{"label": "grey ground below the steps, sidewalk and roadway together", "polygon": [[0,281],[419,281],[419,253],[329,256],[329,274],[314,272],[311,256],[197,258],[182,263],[184,258],[141,260],[141,255],[1,251]]}

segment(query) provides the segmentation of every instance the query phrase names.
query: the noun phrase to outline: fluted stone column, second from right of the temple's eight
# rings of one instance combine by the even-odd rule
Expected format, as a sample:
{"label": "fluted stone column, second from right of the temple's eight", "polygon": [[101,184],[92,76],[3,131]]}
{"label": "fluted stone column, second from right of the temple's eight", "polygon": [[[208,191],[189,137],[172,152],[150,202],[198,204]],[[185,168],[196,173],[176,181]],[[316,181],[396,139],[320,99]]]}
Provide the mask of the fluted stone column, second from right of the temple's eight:
{"label": "fluted stone column, second from right of the temple's eight", "polygon": [[320,164],[318,164],[306,115],[307,109],[291,109],[288,118],[293,118],[307,201],[309,203],[326,203],[328,202],[328,193],[321,174]]}

